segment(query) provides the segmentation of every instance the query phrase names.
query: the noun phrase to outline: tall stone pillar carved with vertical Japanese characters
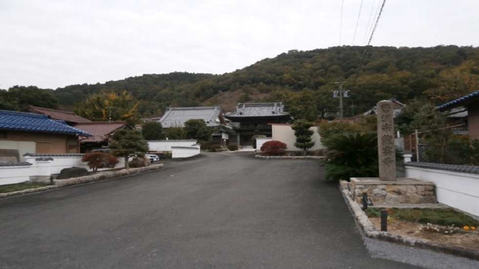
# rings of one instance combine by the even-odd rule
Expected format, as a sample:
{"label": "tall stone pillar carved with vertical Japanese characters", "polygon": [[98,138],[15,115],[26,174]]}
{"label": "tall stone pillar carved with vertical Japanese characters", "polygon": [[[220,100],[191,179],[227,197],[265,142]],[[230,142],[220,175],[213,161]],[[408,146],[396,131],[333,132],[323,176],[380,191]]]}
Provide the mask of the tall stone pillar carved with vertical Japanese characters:
{"label": "tall stone pillar carved with vertical Japanese characters", "polygon": [[394,123],[392,101],[376,104],[377,146],[379,156],[379,180],[396,180],[396,154],[394,149]]}

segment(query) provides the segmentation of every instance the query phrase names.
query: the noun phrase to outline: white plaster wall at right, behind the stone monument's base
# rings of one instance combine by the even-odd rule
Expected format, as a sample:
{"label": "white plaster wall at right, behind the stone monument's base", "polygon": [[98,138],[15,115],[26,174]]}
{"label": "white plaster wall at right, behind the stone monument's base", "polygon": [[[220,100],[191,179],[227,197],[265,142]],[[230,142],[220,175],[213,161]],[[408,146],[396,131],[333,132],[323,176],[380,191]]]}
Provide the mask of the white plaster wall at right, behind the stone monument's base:
{"label": "white plaster wall at right, behind the stone monument's base", "polygon": [[406,166],[406,177],[434,182],[437,202],[479,216],[479,175]]}

